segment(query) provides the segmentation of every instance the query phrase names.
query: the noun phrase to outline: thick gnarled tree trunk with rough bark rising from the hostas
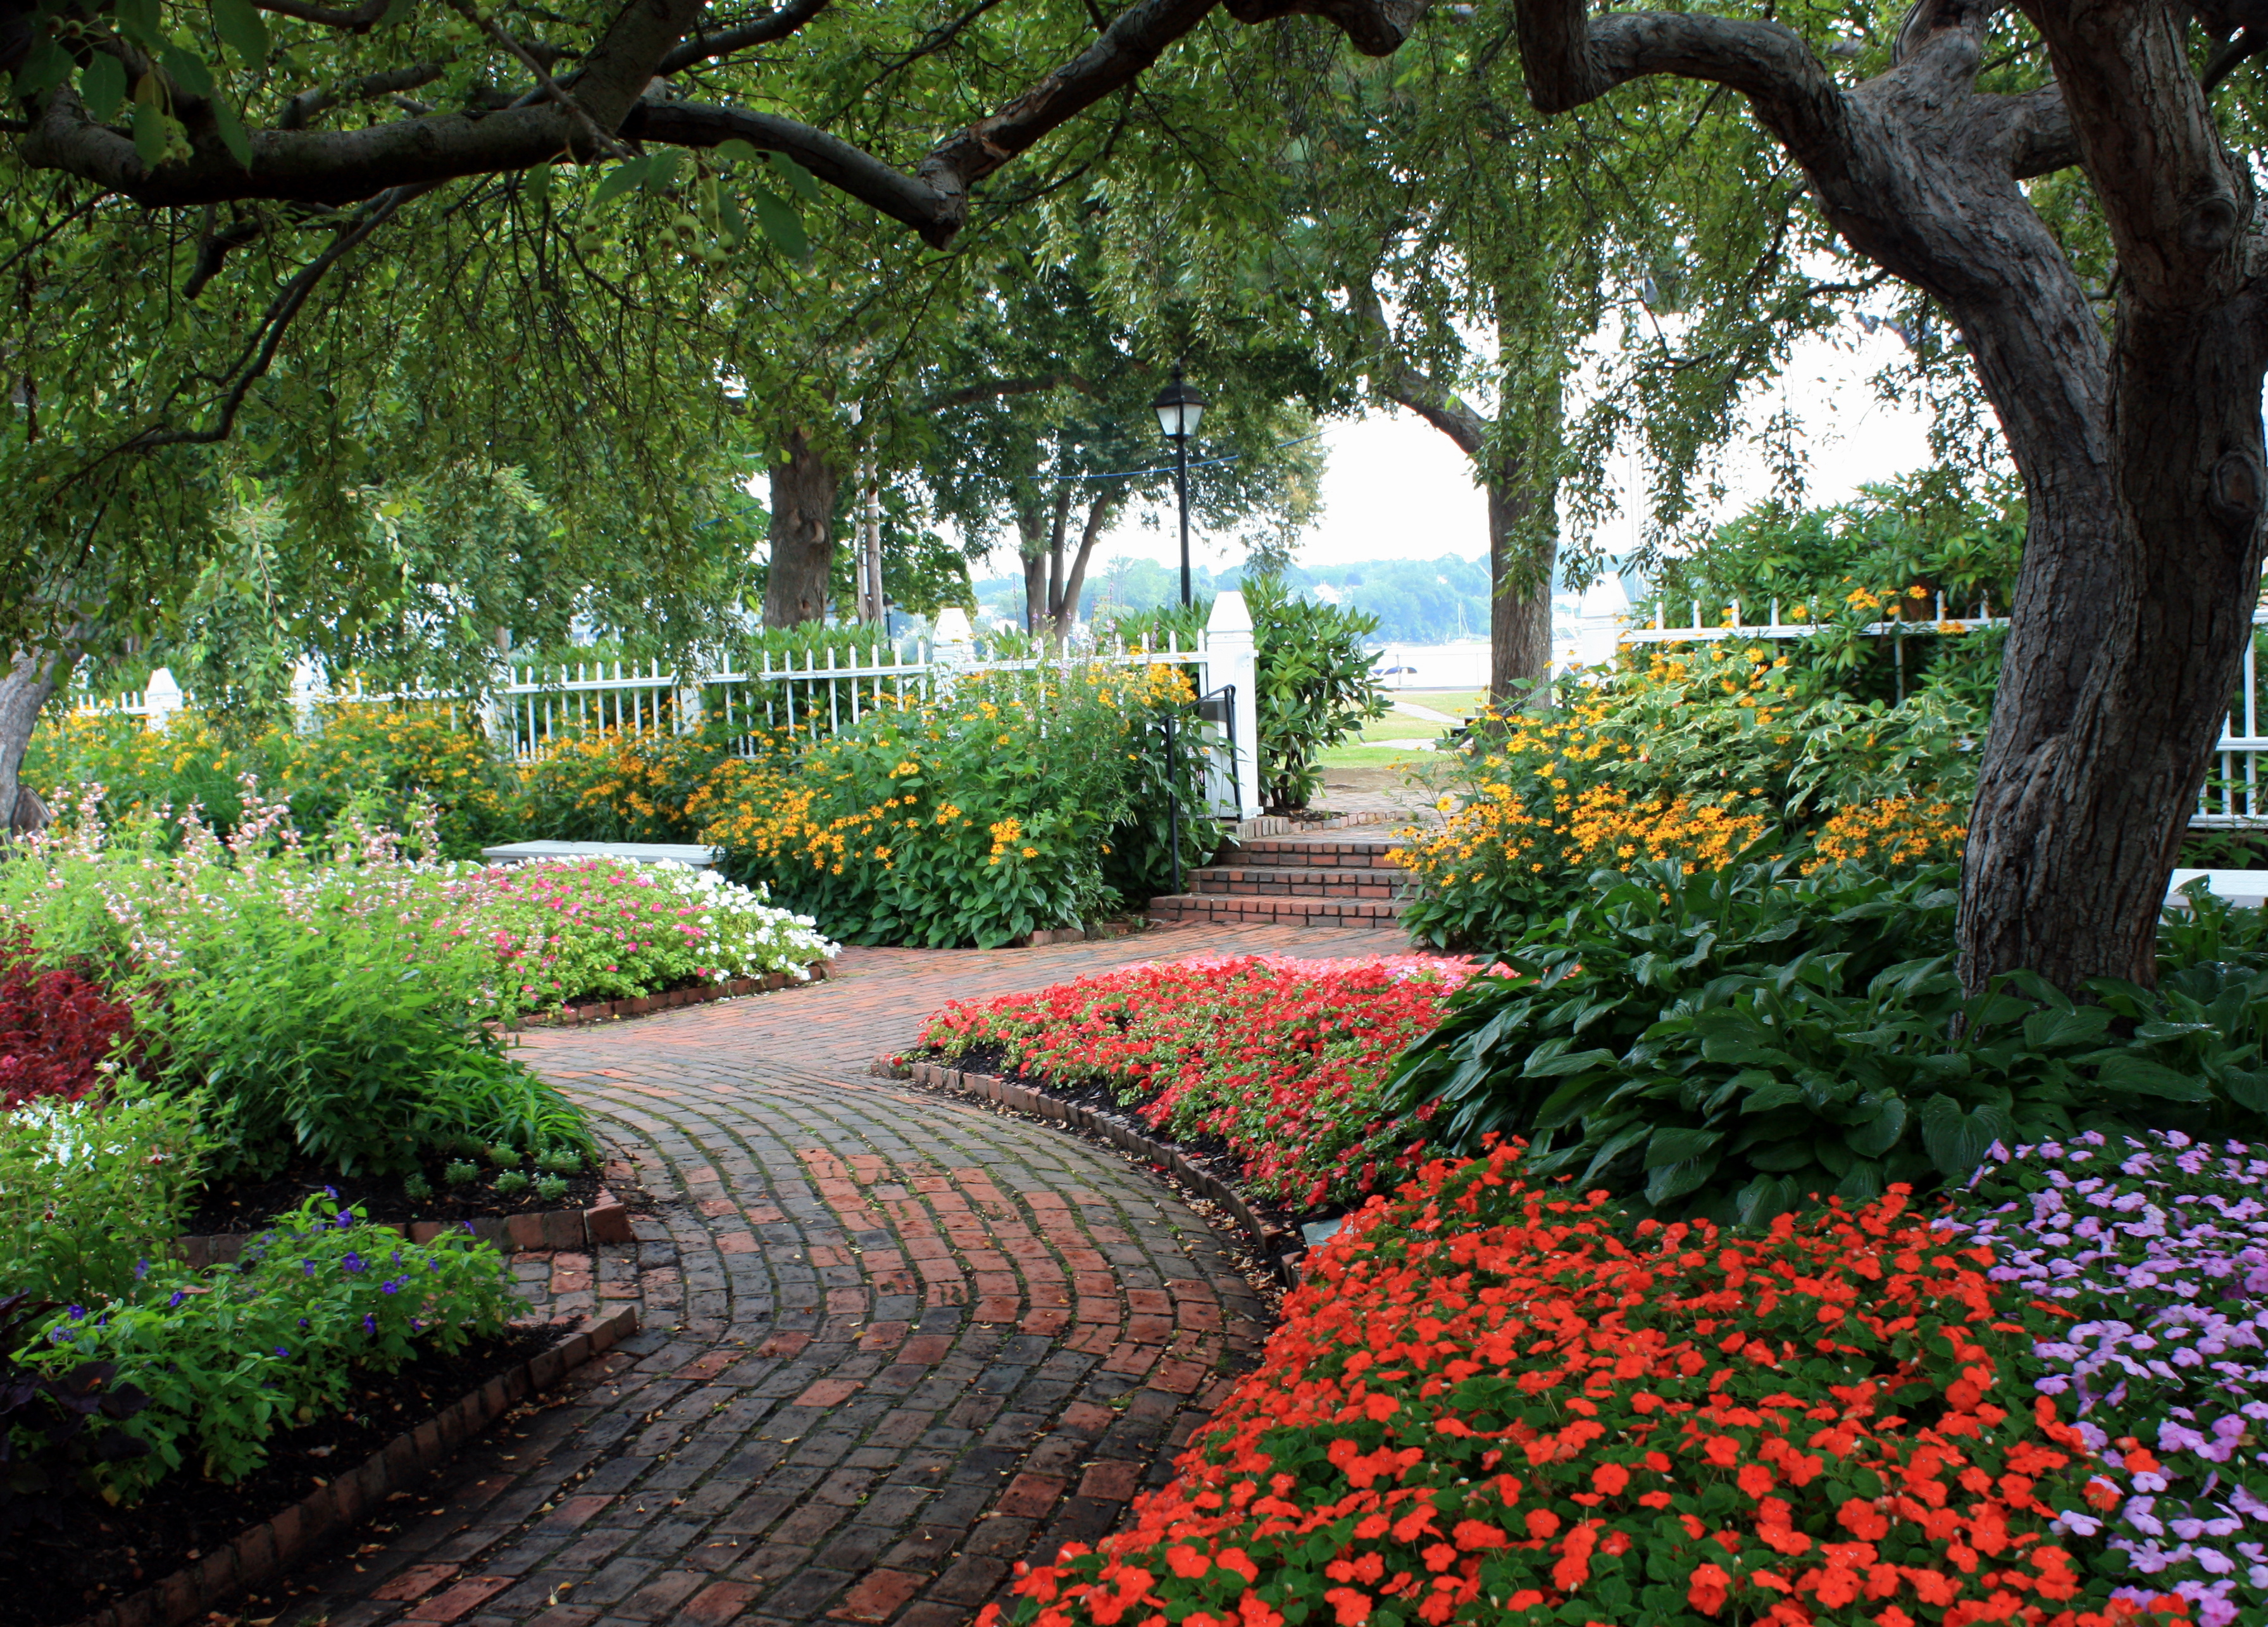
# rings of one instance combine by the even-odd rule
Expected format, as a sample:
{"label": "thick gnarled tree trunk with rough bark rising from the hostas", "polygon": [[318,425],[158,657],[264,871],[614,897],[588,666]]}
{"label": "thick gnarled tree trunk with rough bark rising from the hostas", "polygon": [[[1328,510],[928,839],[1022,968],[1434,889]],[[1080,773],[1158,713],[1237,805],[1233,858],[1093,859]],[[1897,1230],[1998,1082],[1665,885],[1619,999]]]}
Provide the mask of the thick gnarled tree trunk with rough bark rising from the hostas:
{"label": "thick gnarled tree trunk with rough bark rising from the hostas", "polygon": [[[1529,93],[1656,73],[1726,84],[1828,222],[1939,300],[2023,472],[2030,531],[1962,876],[1969,987],[2155,978],[2166,876],[2261,576],[2263,268],[2170,0],[2025,0],[2055,84],[1975,91],[1996,0],[1921,0],[1842,86],[1778,23],[1517,0]],[[2105,336],[2019,182],[2082,163],[2118,252]]]}

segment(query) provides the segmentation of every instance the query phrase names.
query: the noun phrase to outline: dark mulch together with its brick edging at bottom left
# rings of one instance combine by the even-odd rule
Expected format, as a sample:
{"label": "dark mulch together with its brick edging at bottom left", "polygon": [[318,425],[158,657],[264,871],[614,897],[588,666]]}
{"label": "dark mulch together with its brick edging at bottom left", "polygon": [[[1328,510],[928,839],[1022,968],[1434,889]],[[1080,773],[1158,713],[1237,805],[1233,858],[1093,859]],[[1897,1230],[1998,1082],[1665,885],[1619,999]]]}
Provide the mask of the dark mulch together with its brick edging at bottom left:
{"label": "dark mulch together with its brick edging at bottom left", "polygon": [[513,1327],[456,1355],[426,1355],[356,1386],[354,1411],[268,1443],[268,1461],[222,1486],[177,1475],[132,1509],[61,1500],[59,1532],[0,1545],[7,1620],[23,1627],[170,1627],[284,1570],[331,1529],[356,1525],[490,1421],[612,1348],[621,1314],[569,1339]]}

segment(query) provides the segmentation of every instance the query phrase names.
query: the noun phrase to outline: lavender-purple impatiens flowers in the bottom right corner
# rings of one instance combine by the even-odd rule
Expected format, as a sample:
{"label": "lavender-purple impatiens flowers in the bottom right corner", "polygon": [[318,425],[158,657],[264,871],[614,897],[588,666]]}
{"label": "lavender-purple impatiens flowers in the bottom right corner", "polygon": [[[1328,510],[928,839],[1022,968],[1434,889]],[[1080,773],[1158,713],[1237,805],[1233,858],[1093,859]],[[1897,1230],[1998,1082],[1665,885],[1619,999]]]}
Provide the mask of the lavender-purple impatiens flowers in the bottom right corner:
{"label": "lavender-purple impatiens flowers in the bottom right corner", "polygon": [[2034,1293],[2037,1389],[2123,1482],[2062,1527],[2123,1559],[2125,1595],[2268,1622],[2268,1157],[2184,1135],[1994,1148],[1964,1209],[1989,1275]]}

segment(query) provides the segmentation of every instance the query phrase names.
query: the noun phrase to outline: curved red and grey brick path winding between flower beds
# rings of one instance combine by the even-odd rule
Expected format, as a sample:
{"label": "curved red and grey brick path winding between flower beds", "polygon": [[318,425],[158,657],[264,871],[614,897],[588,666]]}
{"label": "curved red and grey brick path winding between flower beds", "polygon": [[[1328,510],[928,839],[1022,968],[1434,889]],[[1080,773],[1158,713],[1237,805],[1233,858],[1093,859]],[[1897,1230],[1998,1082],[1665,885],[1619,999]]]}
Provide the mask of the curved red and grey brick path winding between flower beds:
{"label": "curved red and grey brick path winding between flower beds", "polygon": [[[1032,951],[846,951],[839,976],[524,1053],[655,1198],[553,1303],[644,1332],[474,1443],[288,1627],[943,1627],[1016,1559],[1093,1541],[1250,1364],[1222,1239],[1116,1153],[866,1073],[948,998],[1220,953],[1388,953],[1370,930],[1177,928]],[[608,1280],[606,1266],[617,1266]],[[524,1273],[540,1268],[524,1264]]]}

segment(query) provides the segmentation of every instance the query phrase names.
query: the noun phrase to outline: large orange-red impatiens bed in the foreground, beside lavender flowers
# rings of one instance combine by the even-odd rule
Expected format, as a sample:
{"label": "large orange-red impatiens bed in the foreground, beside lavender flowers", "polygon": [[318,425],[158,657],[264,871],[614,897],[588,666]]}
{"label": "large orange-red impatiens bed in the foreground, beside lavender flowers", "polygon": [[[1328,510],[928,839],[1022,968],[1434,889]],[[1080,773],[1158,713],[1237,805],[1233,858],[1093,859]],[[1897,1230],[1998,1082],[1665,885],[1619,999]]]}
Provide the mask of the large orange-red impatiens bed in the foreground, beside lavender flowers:
{"label": "large orange-red impatiens bed in the foreground, beside lavender flowers", "polygon": [[1903,1194],[1619,1230],[1515,1160],[1427,1164],[1354,1216],[1179,1477],[980,1627],[2143,1613],[2050,1529],[2118,1491],[2014,1375],[1989,1250]]}

